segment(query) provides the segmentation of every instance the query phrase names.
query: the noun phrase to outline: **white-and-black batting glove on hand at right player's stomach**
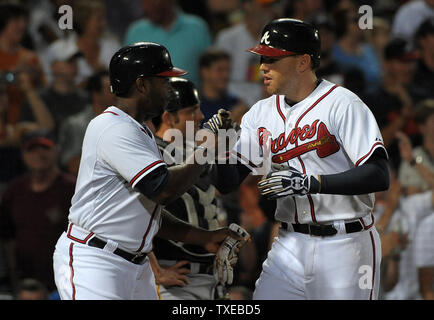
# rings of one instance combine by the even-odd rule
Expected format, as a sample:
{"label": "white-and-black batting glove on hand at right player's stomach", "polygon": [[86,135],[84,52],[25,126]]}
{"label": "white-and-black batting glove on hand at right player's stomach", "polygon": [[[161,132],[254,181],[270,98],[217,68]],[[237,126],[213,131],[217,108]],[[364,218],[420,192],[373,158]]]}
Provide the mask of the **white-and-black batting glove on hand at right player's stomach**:
{"label": "white-and-black batting glove on hand at right player's stomach", "polygon": [[258,182],[261,195],[267,199],[277,199],[289,195],[306,195],[310,191],[310,177],[295,168],[270,172]]}

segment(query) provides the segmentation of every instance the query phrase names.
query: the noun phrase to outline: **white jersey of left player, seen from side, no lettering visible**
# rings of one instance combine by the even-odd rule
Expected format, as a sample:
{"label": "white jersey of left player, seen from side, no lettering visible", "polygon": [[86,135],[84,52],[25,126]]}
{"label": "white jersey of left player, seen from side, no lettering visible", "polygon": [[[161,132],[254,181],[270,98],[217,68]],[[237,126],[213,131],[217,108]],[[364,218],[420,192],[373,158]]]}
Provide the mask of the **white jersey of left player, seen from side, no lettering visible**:
{"label": "white jersey of left player, seen from side, no lettering visible", "polygon": [[133,187],[164,165],[150,130],[107,108],[86,130],[70,222],[121,249],[151,251],[161,207]]}

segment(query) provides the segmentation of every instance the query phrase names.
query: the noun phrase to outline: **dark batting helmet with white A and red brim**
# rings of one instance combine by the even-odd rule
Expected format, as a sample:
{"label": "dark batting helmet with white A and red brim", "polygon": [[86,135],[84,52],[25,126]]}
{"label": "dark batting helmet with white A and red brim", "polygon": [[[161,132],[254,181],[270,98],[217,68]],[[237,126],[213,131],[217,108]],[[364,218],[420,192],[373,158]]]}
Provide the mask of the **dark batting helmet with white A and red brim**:
{"label": "dark batting helmet with white A and red brim", "polygon": [[313,25],[297,19],[276,19],[262,30],[259,45],[248,51],[269,57],[308,54],[312,67],[317,68],[321,56],[319,31]]}

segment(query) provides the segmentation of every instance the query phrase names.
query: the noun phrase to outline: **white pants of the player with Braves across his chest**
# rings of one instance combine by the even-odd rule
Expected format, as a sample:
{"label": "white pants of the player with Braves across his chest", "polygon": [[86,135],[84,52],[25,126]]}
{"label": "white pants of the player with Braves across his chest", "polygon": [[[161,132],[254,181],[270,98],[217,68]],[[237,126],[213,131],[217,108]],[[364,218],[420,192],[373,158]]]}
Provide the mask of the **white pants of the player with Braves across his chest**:
{"label": "white pants of the player with Braves across his chest", "polygon": [[279,230],[254,300],[369,300],[378,296],[381,243],[375,227],[316,237]]}

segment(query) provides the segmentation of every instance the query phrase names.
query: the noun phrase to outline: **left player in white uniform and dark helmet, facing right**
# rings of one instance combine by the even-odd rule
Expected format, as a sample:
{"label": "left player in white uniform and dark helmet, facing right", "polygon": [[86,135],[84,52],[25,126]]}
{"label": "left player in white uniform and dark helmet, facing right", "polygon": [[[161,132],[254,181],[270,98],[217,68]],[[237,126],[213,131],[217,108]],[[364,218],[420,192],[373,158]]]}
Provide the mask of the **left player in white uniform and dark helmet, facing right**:
{"label": "left player in white uniform and dark helmet, facing right", "polygon": [[156,234],[211,252],[229,235],[242,238],[228,228],[192,226],[163,209],[208,168],[194,161],[168,168],[142,125],[164,111],[169,77],[186,72],[173,67],[165,47],[149,42],[121,48],[109,72],[118,106],[86,130],[69,225],[53,255],[56,286],[62,299],[157,299],[147,257]]}

